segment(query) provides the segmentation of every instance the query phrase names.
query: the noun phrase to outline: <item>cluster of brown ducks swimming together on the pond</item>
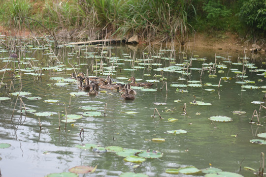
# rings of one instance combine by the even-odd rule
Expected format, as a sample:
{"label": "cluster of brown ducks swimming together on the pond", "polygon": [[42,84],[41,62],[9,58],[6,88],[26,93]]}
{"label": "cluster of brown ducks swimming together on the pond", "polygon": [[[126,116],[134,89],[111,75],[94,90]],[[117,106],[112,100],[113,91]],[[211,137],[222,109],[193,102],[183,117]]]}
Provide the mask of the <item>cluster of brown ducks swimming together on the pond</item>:
{"label": "cluster of brown ducks swimming together on the pond", "polygon": [[77,76],[74,73],[71,73],[71,78],[77,79],[78,89],[83,89],[88,92],[88,95],[98,95],[100,89],[109,89],[122,92],[122,98],[126,100],[135,99],[136,91],[131,89],[131,86],[136,87],[151,87],[153,83],[143,82],[136,83],[136,79],[131,77],[128,81],[131,81],[130,84],[121,84],[121,83],[112,83],[110,76],[108,75],[106,79],[100,77],[85,77],[83,72],[80,72]]}

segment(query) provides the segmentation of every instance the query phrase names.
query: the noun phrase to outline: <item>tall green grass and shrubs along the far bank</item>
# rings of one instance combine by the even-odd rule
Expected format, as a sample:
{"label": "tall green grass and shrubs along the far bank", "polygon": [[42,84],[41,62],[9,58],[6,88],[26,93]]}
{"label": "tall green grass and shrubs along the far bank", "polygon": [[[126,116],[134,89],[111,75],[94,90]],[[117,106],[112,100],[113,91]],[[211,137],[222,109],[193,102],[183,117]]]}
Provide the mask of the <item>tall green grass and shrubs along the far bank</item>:
{"label": "tall green grass and shrubs along the far bank", "polygon": [[0,0],[5,27],[42,28],[20,17],[91,39],[138,34],[182,42],[194,30],[233,31],[253,40],[266,35],[266,0]]}

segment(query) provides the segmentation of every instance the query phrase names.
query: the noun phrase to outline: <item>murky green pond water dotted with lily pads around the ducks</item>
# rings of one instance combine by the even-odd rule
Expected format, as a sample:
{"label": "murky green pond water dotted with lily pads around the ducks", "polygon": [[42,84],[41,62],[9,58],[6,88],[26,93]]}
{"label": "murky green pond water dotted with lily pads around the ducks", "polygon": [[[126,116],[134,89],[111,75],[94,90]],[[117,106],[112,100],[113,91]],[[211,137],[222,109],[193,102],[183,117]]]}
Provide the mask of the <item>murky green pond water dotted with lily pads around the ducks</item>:
{"label": "murky green pond water dotted with lily pads around the ducks", "polygon": [[[262,109],[259,114],[263,126],[249,122],[253,111],[259,111],[260,108],[260,104],[251,102],[260,101],[265,106],[265,57],[252,59],[251,55],[243,58],[242,53],[194,51],[191,54],[191,51],[179,52],[179,48],[173,51],[160,46],[147,48],[118,45],[105,48],[63,47],[53,51],[57,60],[49,48],[37,48],[38,46],[28,46],[21,50],[20,55],[24,57],[20,58],[20,68],[27,68],[21,71],[21,81],[13,75],[12,70],[4,72],[9,54],[1,50],[0,78],[4,74],[2,83],[7,83],[7,88],[4,89],[4,84],[2,85],[0,97],[10,99],[0,101],[0,143],[11,145],[0,150],[2,176],[44,177],[51,173],[68,172],[68,169],[80,165],[97,165],[95,173],[79,175],[83,177],[118,177],[126,172],[146,174],[149,177],[172,177],[174,175],[167,174],[166,169],[186,166],[195,166],[198,169],[211,166],[245,177],[252,176],[252,172],[244,170],[245,166],[259,171],[260,155],[261,152],[266,153],[266,146],[252,144],[250,140],[265,140],[257,134],[266,132],[266,110]],[[104,75],[99,73],[100,60],[104,63]],[[14,68],[14,63],[18,68],[17,62],[13,61],[7,68]],[[91,97],[84,95],[84,91],[77,88],[75,80],[63,81],[68,83],[66,86],[58,84],[62,80],[55,77],[69,79],[71,72],[74,72],[69,63],[74,65],[77,73],[82,71],[86,75],[86,70],[89,69],[90,76],[100,77],[106,77],[113,65],[113,82],[129,83],[127,80],[131,76],[137,79],[136,82],[155,79],[159,82],[152,87],[156,90],[134,88],[137,92],[134,100],[124,100],[119,92],[112,90],[99,92],[98,96]],[[97,73],[92,71],[92,63],[93,66],[98,65]],[[189,63],[191,64],[186,70]],[[203,63],[204,70],[201,75]],[[38,73],[40,75],[41,68],[40,78]],[[242,79],[243,68],[246,78]],[[96,67],[93,69],[95,71]],[[36,76],[31,73],[35,73]],[[155,78],[155,74],[159,76]],[[216,76],[211,77],[209,74]],[[19,76],[20,73],[15,72],[15,75]],[[167,83],[167,91],[166,86],[163,87],[163,77]],[[218,89],[217,85],[223,77],[228,79],[222,79]],[[241,84],[244,80],[245,83]],[[27,110],[35,112],[20,114],[20,100],[17,100],[16,95],[10,94],[14,92],[13,87],[9,93],[11,81],[15,91],[19,91],[22,84],[21,91],[31,93],[19,98],[22,98]],[[252,88],[241,88],[245,85]],[[71,92],[74,93],[70,94]],[[81,95],[73,95],[77,93]],[[30,100],[29,97],[40,98]],[[44,102],[50,99],[58,102]],[[191,104],[194,100],[196,103],[202,101],[211,105]],[[185,103],[186,113],[183,110]],[[105,104],[107,106],[104,116]],[[82,116],[88,112],[82,109],[85,106],[94,107],[101,115]],[[23,107],[22,105],[22,111]],[[155,108],[164,119],[160,119],[157,112],[155,118],[153,117]],[[233,114],[233,111],[246,113]],[[36,113],[40,112],[49,112],[52,115],[39,117]],[[65,123],[61,122],[59,130],[59,115],[62,119],[66,112],[67,115],[81,115],[82,118],[67,123],[66,129]],[[128,114],[129,112],[135,114]],[[212,116],[227,116],[233,121],[211,121],[209,118]],[[38,118],[42,124],[41,129]],[[178,120],[171,122],[168,118]],[[257,122],[256,117],[254,121]],[[82,128],[84,137],[82,134],[79,135]],[[175,135],[167,132],[179,129],[186,130],[187,133]],[[163,138],[165,141],[158,143],[152,141],[153,138]],[[163,156],[147,158],[135,167],[132,162],[125,162],[125,157],[114,152],[76,148],[77,145],[84,144],[151,149],[162,152]],[[198,176],[204,174],[200,173]]]}

